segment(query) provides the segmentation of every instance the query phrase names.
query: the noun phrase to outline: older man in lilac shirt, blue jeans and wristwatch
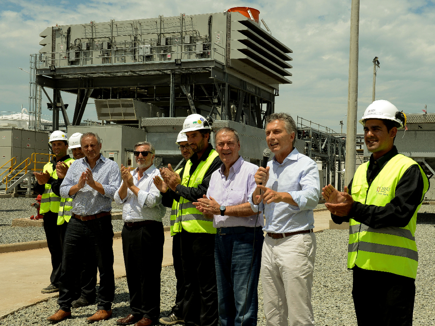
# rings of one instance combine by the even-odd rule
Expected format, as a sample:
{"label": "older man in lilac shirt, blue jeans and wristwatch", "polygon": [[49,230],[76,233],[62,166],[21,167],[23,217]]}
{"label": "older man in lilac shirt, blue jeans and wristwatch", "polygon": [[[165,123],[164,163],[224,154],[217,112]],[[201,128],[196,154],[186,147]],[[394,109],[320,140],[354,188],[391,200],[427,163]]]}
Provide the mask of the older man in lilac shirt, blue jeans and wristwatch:
{"label": "older man in lilac shirt, blue jeans and wristwatch", "polygon": [[258,166],[239,155],[240,140],[233,128],[216,132],[214,143],[223,163],[211,175],[207,196],[193,204],[213,218],[217,231],[214,260],[222,326],[255,326],[264,221],[263,214],[252,211],[248,196],[257,186]]}

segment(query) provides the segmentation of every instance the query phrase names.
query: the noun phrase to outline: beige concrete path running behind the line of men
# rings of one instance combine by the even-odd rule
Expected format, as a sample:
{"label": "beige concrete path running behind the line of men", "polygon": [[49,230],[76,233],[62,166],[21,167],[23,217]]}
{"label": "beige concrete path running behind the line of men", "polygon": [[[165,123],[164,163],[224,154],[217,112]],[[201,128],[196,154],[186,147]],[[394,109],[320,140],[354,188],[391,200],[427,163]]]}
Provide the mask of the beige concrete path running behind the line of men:
{"label": "beige concrete path running behind the line of men", "polygon": [[[330,227],[331,217],[328,211],[317,210],[314,217],[315,232]],[[123,277],[125,267],[120,232],[117,232],[115,236],[113,242],[114,272],[115,277]],[[171,233],[166,231],[164,236],[162,266],[170,266],[172,265]],[[37,247],[40,248],[40,244]],[[48,248],[0,253],[0,275],[2,276],[0,278],[0,319],[13,311],[57,296],[58,293],[41,293],[41,289],[50,283],[50,273],[51,262]]]}

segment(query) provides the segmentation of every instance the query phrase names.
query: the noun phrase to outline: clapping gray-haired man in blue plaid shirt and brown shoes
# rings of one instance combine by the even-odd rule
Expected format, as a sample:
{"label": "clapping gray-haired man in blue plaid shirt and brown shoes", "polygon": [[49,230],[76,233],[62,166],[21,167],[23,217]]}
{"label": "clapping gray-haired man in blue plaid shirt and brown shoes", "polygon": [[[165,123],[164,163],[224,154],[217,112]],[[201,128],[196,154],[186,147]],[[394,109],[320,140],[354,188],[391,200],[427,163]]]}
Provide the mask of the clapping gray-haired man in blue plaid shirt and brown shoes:
{"label": "clapping gray-haired man in blue plaid shirt and brown shoes", "polygon": [[59,306],[51,322],[71,317],[71,303],[75,295],[76,276],[81,262],[95,259],[100,272],[97,312],[89,322],[109,319],[115,296],[112,199],[121,178],[116,162],[101,155],[101,140],[96,133],[84,133],[80,144],[85,157],[71,164],[60,185],[60,195],[72,198],[72,217],[67,225],[59,279]]}

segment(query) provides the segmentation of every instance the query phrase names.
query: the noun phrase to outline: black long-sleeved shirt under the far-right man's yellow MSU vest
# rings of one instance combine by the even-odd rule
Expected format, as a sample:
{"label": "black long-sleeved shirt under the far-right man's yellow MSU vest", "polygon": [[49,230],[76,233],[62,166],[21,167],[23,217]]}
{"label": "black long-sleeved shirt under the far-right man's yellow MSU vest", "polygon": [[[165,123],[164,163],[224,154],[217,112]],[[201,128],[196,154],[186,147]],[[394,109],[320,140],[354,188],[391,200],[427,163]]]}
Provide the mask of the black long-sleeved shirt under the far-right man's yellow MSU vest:
{"label": "black long-sleeved shirt under the far-right man's yellow MSU vest", "polygon": [[[378,160],[375,160],[371,154],[367,168],[369,187],[385,164],[397,154],[396,146]],[[353,179],[348,186],[349,193],[351,193],[352,181]],[[423,176],[419,166],[415,164],[405,171],[397,183],[394,198],[385,206],[366,205],[355,201],[348,216],[335,216],[331,213],[331,218],[337,224],[349,222],[349,218],[352,218],[374,229],[387,226],[405,227],[422,202],[422,196]]]}

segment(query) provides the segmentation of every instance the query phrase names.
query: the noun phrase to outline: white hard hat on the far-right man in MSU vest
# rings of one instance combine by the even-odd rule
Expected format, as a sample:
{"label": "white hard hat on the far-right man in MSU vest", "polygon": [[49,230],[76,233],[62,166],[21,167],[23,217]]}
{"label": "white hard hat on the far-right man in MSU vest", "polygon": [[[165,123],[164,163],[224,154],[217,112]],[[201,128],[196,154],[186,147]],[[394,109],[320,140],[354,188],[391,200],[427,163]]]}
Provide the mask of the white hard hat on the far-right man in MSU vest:
{"label": "white hard hat on the far-right man in MSU vest", "polygon": [[367,119],[386,119],[398,123],[397,129],[401,129],[406,125],[406,115],[397,110],[397,107],[387,100],[376,100],[367,106],[364,114],[359,120],[363,126]]}

